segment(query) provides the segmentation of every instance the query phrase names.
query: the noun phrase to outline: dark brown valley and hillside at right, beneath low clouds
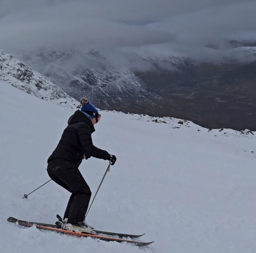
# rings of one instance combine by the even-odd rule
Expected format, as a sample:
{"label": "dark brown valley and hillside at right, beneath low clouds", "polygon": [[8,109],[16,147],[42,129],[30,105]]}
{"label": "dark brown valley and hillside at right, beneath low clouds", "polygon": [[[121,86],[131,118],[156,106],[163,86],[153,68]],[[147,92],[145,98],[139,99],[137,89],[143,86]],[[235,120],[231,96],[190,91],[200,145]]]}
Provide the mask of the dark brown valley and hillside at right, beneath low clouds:
{"label": "dark brown valley and hillside at right, beneath low clouds", "polygon": [[[164,115],[186,118],[208,128],[255,131],[255,49],[232,48],[224,57],[219,50],[209,48],[209,59],[205,56],[201,60],[151,57],[148,60],[155,62],[157,70],[136,75],[161,97],[160,112]],[[215,60],[211,54],[216,54]]]}

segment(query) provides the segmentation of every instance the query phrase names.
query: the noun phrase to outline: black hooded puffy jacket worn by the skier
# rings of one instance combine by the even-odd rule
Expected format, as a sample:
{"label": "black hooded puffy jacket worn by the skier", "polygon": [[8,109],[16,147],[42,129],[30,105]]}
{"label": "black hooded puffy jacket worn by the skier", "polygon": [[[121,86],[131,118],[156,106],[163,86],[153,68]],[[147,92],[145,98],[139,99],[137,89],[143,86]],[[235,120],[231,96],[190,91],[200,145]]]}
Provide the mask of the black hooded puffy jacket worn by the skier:
{"label": "black hooded puffy jacket worn by the skier", "polygon": [[102,149],[98,149],[92,144],[91,134],[95,131],[92,122],[79,110],[77,110],[68,120],[59,144],[52,152],[47,162],[54,158],[62,158],[72,161],[79,166],[84,154],[104,160],[110,159],[110,154]]}

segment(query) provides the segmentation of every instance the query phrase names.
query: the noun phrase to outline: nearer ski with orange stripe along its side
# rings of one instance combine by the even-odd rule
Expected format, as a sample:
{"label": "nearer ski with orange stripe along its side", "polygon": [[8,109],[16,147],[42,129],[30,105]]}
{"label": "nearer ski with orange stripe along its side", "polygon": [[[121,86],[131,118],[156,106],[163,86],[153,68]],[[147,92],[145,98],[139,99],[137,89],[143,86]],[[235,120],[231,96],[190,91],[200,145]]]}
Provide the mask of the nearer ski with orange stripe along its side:
{"label": "nearer ski with orange stripe along its side", "polygon": [[[74,232],[74,231],[61,229],[61,228],[59,228],[59,226],[54,225],[54,224],[23,221],[23,220],[15,219],[13,217],[9,217],[7,220],[9,222],[18,223],[19,225],[25,226],[25,227],[31,227],[31,226],[35,225],[37,229],[50,230],[50,231],[55,231],[56,233],[74,235],[74,236],[78,236],[78,237],[93,237],[93,238],[96,238],[96,239],[99,239],[99,240],[105,240],[105,241],[127,242],[127,243],[134,244],[136,246],[147,246],[147,245],[150,245],[151,243],[153,243],[153,242],[137,242],[137,241],[127,240],[127,239],[122,239],[122,238],[101,236],[101,235],[98,235],[98,234],[97,235],[92,235],[92,234],[79,233],[79,232]],[[109,232],[107,232],[107,233],[109,233]]]}

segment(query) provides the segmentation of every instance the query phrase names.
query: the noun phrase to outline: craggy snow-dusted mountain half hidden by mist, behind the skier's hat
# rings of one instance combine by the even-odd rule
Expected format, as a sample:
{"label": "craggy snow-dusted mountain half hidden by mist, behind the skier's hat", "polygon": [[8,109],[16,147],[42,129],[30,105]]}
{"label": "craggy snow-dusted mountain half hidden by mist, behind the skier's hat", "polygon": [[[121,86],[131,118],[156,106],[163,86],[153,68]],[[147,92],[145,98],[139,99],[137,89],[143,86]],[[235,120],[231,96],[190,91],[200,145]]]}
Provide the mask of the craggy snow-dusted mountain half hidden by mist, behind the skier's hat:
{"label": "craggy snow-dusted mountain half hidden by mist, behind the skier's hat", "polygon": [[102,109],[136,112],[143,103],[154,105],[157,97],[132,71],[114,67],[97,51],[31,54],[24,60],[70,96],[79,99],[86,94]]}

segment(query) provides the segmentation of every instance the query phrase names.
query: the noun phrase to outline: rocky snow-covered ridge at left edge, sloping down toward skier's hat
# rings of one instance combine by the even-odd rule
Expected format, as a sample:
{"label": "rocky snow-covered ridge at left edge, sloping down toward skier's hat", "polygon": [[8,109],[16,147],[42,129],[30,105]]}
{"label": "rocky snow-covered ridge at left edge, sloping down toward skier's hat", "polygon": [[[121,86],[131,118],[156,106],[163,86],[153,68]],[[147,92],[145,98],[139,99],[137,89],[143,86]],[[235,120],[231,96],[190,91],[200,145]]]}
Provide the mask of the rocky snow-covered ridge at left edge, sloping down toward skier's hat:
{"label": "rocky snow-covered ridge at left edge, sloping down toward skier's hat", "polygon": [[24,90],[37,98],[51,100],[63,106],[74,107],[77,101],[49,78],[31,69],[18,58],[0,50],[0,80]]}

